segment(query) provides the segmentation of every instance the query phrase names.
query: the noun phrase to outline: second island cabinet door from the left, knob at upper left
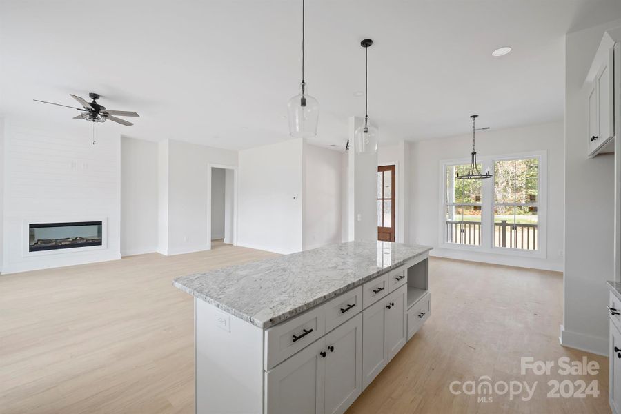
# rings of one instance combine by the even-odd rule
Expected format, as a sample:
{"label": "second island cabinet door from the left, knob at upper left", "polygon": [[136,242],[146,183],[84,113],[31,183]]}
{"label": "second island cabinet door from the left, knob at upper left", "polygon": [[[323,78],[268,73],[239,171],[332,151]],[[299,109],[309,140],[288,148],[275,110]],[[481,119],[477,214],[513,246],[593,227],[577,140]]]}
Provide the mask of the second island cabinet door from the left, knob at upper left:
{"label": "second island cabinet door from the left, knob at upper left", "polygon": [[362,313],[326,335],[326,414],[342,414],[362,392]]}

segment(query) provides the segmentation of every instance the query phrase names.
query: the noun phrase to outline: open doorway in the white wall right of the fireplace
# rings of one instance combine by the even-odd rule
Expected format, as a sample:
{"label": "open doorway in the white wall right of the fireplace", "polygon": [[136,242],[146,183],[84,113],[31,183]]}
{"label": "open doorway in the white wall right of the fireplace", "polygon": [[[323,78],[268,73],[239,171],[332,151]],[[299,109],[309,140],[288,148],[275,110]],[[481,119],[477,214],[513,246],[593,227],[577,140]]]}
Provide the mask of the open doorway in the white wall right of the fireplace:
{"label": "open doorway in the white wall right of the fireplace", "polygon": [[211,248],[235,244],[237,168],[210,166],[209,239]]}

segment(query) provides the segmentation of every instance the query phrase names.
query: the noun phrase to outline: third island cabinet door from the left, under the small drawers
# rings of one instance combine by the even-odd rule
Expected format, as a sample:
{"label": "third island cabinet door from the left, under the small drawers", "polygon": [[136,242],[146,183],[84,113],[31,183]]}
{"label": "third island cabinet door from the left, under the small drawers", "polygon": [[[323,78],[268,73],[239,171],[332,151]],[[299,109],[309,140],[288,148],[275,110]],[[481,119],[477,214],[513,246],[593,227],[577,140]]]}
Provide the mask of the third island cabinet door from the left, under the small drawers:
{"label": "third island cabinet door from the left, under the small drawers", "polygon": [[[364,300],[364,299],[363,299]],[[362,311],[362,389],[388,364],[386,350],[386,299]]]}

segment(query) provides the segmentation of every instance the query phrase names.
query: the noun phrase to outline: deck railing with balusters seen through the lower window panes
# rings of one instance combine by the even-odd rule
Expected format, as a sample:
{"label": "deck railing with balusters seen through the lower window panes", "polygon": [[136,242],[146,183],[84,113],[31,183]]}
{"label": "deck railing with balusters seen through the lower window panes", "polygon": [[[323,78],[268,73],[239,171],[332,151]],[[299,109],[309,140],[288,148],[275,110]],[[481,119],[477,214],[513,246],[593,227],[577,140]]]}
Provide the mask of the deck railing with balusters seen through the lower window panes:
{"label": "deck railing with balusters seen through the lower window panes", "polygon": [[[447,220],[446,240],[449,243],[479,246],[481,222]],[[538,225],[513,224],[506,220],[494,223],[494,246],[538,250]]]}

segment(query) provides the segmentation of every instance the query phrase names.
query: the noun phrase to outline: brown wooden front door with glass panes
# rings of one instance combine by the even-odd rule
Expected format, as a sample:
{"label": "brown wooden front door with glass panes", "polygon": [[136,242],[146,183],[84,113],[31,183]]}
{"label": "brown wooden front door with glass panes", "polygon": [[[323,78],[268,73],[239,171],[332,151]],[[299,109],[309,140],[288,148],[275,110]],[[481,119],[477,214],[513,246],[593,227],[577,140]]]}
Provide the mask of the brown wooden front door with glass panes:
{"label": "brown wooden front door with glass panes", "polygon": [[395,166],[377,167],[377,239],[395,241]]}

